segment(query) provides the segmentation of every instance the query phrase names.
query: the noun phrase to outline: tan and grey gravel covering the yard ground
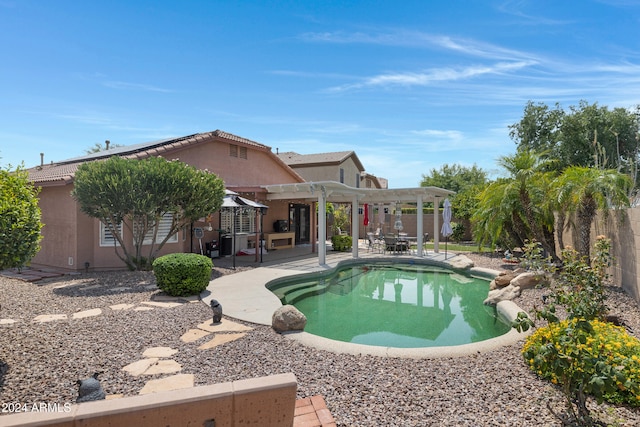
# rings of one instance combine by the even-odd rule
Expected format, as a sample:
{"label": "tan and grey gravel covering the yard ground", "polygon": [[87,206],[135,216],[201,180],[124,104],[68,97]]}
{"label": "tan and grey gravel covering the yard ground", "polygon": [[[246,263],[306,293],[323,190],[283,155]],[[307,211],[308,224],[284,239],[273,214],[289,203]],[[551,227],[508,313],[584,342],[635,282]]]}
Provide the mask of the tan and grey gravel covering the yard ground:
{"label": "tan and grey gravel covering the yard ground", "polygon": [[[477,266],[509,267],[496,258],[468,256]],[[232,272],[216,268],[214,277]],[[469,357],[394,359],[310,349],[269,327],[250,325],[254,329],[240,340],[198,350],[202,341],[183,343],[179,337],[210,319],[205,304],[151,311],[109,308],[149,301],[159,294],[154,283],[153,274],[145,272],[80,274],[38,284],[0,277],[0,318],[17,320],[0,325],[0,404],[75,402],[75,381],[94,372],[103,372],[107,394],[136,395],[149,378],[134,378],[122,367],[141,359],[148,347],[168,346],[179,350],[172,358],[183,373],[195,375],[197,385],[293,372],[298,396],[323,395],[341,426],[561,425],[547,405],[561,410],[562,395],[525,366],[522,342]],[[541,294],[526,291],[516,302],[531,310]],[[638,305],[619,287],[609,289],[608,301],[612,313],[638,336]],[[31,322],[40,314],[70,317],[93,308],[103,314]],[[637,409],[591,406],[609,424],[640,425]]]}

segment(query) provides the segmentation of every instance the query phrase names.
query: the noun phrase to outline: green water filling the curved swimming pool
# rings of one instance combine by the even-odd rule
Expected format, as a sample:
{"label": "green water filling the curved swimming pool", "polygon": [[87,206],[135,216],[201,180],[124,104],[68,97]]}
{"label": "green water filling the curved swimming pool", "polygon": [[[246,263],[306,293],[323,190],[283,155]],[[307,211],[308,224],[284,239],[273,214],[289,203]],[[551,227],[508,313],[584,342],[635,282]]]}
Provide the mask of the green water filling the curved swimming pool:
{"label": "green water filling the curved swimming pool", "polygon": [[305,331],[338,341],[416,348],[469,344],[510,327],[482,302],[489,282],[435,266],[359,264],[270,284],[307,317]]}

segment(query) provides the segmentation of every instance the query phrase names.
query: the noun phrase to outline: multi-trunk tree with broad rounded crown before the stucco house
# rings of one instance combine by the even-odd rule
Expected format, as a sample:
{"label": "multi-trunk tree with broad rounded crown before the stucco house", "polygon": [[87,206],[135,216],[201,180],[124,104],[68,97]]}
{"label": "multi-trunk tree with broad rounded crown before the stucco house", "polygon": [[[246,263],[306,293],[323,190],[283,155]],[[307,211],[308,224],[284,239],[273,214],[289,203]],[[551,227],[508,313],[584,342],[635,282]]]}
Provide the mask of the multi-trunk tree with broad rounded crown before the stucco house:
{"label": "multi-trunk tree with broad rounded crown before the stucco house", "polygon": [[[220,208],[224,183],[216,175],[180,161],[114,156],[81,165],[72,196],[82,212],[102,221],[115,237],[118,257],[130,269],[140,270],[150,268],[178,230]],[[158,224],[167,217],[171,226],[166,235],[159,236]],[[120,227],[133,235],[133,248],[122,239]],[[143,256],[145,240],[151,243]]]}

